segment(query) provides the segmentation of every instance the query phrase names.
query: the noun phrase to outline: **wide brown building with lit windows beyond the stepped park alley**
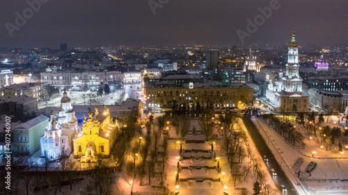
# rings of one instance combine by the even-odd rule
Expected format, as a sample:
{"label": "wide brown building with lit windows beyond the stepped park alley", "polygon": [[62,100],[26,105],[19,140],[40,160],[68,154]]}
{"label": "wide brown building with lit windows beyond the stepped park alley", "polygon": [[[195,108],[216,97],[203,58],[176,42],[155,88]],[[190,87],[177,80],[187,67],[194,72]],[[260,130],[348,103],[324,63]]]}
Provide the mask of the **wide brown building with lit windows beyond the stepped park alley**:
{"label": "wide brown building with lit windows beyond the stepped park alley", "polygon": [[253,88],[246,85],[216,85],[215,83],[185,83],[182,87],[157,83],[145,87],[146,105],[150,108],[172,108],[177,105],[213,103],[215,108],[237,108],[239,101],[253,102]]}

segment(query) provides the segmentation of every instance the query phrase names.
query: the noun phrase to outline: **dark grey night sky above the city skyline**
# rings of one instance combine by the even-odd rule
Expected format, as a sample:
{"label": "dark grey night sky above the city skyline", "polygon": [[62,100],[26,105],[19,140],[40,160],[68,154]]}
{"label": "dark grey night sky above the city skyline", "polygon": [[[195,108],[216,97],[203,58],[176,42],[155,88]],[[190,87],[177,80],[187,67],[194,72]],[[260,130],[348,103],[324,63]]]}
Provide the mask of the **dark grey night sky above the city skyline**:
{"label": "dark grey night sky above the city skyline", "polygon": [[[35,1],[35,0],[29,0]],[[36,0],[39,1],[39,0]],[[44,0],[41,0],[44,1]],[[26,1],[0,1],[0,47],[242,44],[237,29],[274,0],[152,0],[164,2],[153,14],[148,0],[45,0],[10,37],[6,23],[30,8]],[[168,1],[166,3],[166,1]],[[280,8],[245,44],[348,43],[347,0],[278,0]],[[28,9],[27,9],[28,10]]]}

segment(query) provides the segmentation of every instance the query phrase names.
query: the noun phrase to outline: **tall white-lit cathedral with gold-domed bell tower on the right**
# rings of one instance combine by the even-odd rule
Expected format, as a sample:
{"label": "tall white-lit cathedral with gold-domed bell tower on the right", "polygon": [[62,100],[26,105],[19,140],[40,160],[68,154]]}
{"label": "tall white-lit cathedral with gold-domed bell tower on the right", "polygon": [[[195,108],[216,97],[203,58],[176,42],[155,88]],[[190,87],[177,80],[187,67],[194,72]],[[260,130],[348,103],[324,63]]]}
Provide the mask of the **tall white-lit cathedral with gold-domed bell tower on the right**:
{"label": "tall white-lit cathedral with gold-domed bell tower on the right", "polygon": [[309,95],[302,90],[302,78],[299,76],[299,44],[295,32],[289,43],[285,76],[280,70],[276,82],[269,80],[266,101],[277,112],[308,112]]}

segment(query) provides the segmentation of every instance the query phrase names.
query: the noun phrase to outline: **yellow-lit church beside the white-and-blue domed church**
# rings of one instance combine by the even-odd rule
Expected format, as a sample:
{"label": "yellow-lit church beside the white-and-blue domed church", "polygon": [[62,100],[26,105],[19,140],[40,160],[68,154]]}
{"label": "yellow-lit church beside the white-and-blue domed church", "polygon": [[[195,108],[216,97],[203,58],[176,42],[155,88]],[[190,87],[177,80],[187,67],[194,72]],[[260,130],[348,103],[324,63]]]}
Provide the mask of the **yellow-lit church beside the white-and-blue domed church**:
{"label": "yellow-lit church beside the white-and-blue domed church", "polygon": [[104,112],[95,108],[95,113],[89,110],[88,119],[84,117],[81,132],[73,139],[74,158],[80,162],[97,162],[100,158],[109,158],[116,142],[117,130],[118,122],[113,122],[109,108]]}

